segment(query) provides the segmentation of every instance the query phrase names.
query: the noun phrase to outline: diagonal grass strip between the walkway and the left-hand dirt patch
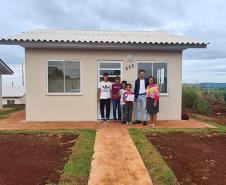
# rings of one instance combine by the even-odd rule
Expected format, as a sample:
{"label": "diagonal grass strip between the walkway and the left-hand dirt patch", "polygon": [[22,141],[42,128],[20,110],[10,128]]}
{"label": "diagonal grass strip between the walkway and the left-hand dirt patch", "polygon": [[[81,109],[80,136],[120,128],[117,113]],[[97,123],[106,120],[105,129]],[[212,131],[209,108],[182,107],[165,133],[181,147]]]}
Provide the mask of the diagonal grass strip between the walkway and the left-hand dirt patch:
{"label": "diagonal grass strip between the walkway and the left-hand dirt patch", "polygon": [[63,174],[60,178],[60,185],[88,184],[95,137],[95,130],[80,131],[69,161],[64,166]]}

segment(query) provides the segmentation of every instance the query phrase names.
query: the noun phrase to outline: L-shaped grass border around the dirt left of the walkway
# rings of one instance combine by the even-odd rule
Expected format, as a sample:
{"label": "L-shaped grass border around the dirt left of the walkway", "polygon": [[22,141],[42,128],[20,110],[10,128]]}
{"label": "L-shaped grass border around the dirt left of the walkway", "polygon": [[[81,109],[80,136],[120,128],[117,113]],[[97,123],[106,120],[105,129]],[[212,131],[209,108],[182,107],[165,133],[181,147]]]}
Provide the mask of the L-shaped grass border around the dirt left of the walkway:
{"label": "L-shaped grass border around the dirt left of the walkway", "polygon": [[[86,185],[90,174],[96,131],[81,130],[3,130],[0,135],[9,134],[75,134],[77,141],[72,148],[72,154],[65,164],[60,177],[60,185]],[[54,185],[49,183],[49,185]]]}

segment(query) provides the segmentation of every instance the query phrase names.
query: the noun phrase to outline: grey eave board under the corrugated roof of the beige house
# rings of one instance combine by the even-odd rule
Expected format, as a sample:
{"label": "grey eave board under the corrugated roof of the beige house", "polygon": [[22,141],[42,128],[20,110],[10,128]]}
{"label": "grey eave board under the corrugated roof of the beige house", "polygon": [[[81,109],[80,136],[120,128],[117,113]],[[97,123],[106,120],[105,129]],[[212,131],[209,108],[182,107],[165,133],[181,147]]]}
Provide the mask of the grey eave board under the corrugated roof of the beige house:
{"label": "grey eave board under the corrugated roof of the beige house", "polygon": [[206,48],[208,43],[109,43],[109,42],[43,42],[0,40],[2,45],[20,45],[24,48],[75,48],[75,49],[134,49],[134,50],[185,50]]}

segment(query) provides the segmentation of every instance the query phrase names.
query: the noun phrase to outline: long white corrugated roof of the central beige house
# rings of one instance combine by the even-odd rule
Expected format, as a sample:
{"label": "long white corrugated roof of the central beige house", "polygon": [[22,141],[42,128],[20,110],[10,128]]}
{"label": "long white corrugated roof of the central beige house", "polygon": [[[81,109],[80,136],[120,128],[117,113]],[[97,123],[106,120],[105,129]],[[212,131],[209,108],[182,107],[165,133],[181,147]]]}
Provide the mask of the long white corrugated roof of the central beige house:
{"label": "long white corrugated roof of the central beige house", "polygon": [[[105,43],[146,45],[192,45],[206,47],[208,43],[189,37],[158,31],[82,31],[63,29],[38,29],[0,39],[0,44],[18,42],[41,43]],[[194,46],[195,45],[195,46]]]}

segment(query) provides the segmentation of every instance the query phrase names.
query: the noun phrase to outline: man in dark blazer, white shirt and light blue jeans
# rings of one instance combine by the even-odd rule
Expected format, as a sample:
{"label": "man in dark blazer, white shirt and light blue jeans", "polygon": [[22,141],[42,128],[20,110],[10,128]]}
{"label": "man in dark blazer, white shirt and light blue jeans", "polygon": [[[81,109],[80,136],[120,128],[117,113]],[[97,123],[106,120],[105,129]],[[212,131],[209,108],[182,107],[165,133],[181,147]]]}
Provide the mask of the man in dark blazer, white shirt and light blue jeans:
{"label": "man in dark blazer, white shirt and light blue jeans", "polygon": [[143,125],[147,124],[147,110],[146,110],[146,89],[148,86],[148,80],[145,78],[145,70],[141,69],[139,71],[139,78],[135,81],[135,99],[136,99],[136,105],[137,105],[137,114],[136,114],[136,122],[135,123],[141,123],[141,115],[142,112],[144,113],[143,118]]}

